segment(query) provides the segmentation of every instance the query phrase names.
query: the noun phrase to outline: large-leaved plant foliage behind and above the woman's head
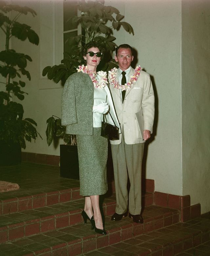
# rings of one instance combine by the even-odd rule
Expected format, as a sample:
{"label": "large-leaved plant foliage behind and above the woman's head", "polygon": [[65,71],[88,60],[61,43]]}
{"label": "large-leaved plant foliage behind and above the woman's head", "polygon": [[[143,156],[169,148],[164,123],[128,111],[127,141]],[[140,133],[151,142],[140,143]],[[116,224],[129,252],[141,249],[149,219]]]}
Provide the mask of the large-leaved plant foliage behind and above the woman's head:
{"label": "large-leaved plant foliage behind and above the woman's head", "polygon": [[113,30],[118,31],[123,28],[134,35],[132,26],[127,22],[121,21],[124,16],[119,13],[119,10],[112,6],[105,6],[104,0],[78,0],[77,8],[81,15],[69,17],[69,22],[76,25],[80,24],[83,33],[68,39],[71,52],[64,53],[61,64],[52,67],[47,66],[42,72],[43,76],[47,75],[55,83],[61,80],[64,84],[70,75],[77,72],[78,65],[84,62],[81,55],[81,45],[91,41],[99,42],[105,50],[105,59],[101,61],[98,69],[107,71],[117,66],[115,60],[111,58],[111,53],[116,47],[114,42],[116,38],[112,35]]}

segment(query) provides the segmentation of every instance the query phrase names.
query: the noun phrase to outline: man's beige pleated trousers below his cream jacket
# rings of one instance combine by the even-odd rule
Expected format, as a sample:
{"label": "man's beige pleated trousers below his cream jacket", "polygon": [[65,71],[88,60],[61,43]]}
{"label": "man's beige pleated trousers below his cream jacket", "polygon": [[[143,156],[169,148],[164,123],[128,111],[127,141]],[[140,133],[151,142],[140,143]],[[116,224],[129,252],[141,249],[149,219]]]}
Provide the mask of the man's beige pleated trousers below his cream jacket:
{"label": "man's beige pleated trousers below his cream jacket", "polygon": [[[116,190],[116,213],[141,213],[141,165],[144,143],[111,145]],[[127,181],[130,181],[129,206]]]}

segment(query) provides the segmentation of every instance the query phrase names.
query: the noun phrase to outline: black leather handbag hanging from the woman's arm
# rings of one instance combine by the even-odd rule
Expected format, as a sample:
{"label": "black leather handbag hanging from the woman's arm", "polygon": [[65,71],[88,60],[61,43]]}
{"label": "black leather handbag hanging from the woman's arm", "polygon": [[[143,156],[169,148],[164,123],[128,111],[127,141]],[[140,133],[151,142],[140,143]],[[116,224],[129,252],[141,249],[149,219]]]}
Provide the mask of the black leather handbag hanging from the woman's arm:
{"label": "black leather handbag hanging from the woman's arm", "polygon": [[[111,114],[109,113],[111,116]],[[112,116],[111,116],[112,117]],[[113,118],[112,118],[113,120]],[[113,120],[114,122],[114,120]],[[115,122],[114,122],[115,124]],[[105,122],[104,114],[103,114],[103,121],[101,122],[101,136],[105,137],[110,140],[119,139],[119,128],[115,125]]]}

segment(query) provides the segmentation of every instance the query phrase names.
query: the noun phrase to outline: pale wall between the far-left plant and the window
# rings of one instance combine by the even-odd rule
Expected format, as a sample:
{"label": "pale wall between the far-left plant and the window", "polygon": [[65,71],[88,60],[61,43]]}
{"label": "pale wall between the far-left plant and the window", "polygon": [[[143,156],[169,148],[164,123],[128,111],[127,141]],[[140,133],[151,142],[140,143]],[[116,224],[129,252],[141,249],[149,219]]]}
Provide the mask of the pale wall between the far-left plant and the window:
{"label": "pale wall between the far-left plant and the window", "polygon": [[[61,1],[15,1],[21,6],[28,6],[36,11],[37,16],[32,17],[22,15],[20,22],[31,26],[39,35],[39,45],[33,45],[28,40],[22,42],[17,39],[12,40],[14,49],[31,56],[32,62],[28,62],[27,70],[30,71],[31,81],[26,81],[24,90],[29,94],[21,102],[24,106],[24,117],[31,117],[37,122],[37,131],[43,140],[38,138],[36,142],[27,142],[26,152],[60,155],[59,144],[62,140],[53,143],[48,147],[46,141],[46,120],[55,115],[61,116],[60,99],[62,86],[55,84],[42,76],[42,70],[45,66],[60,64],[63,57],[63,38],[62,38],[62,0]],[[61,8],[61,11],[59,10]],[[58,15],[59,14],[59,15]],[[58,27],[59,26],[59,27]]]}

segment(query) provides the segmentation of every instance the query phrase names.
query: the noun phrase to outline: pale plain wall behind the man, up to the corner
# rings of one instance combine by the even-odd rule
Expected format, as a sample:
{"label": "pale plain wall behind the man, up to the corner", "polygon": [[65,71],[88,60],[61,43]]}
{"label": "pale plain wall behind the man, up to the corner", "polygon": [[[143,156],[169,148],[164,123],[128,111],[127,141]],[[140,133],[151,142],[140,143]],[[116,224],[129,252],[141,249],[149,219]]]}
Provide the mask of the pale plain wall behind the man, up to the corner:
{"label": "pale plain wall behind the man, up to the corner", "polygon": [[125,8],[119,1],[106,2],[116,3],[135,32],[115,33],[116,44],[133,46],[137,65],[154,81],[156,124],[148,145],[146,178],[155,180],[156,191],[181,195],[181,2],[133,0],[125,1]]}

